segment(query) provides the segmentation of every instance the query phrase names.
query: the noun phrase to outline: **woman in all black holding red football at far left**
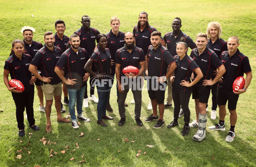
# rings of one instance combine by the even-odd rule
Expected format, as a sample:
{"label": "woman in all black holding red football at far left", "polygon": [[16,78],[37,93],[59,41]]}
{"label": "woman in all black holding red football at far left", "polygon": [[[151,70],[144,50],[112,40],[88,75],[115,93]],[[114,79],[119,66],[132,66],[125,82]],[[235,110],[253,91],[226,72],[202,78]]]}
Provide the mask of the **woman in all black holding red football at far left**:
{"label": "woman in all black holding red football at far left", "polygon": [[[12,92],[12,98],[16,106],[16,119],[19,128],[19,136],[25,136],[25,125],[23,123],[23,112],[26,107],[26,114],[29,121],[29,127],[33,130],[39,130],[39,127],[35,125],[34,119],[34,83],[35,76],[29,72],[29,64],[32,60],[29,54],[24,54],[24,43],[21,40],[14,40],[12,42],[13,54],[6,60],[3,71],[3,81],[9,91]],[[23,92],[11,88],[9,85],[8,76],[12,79],[20,80],[24,85],[25,90]]]}

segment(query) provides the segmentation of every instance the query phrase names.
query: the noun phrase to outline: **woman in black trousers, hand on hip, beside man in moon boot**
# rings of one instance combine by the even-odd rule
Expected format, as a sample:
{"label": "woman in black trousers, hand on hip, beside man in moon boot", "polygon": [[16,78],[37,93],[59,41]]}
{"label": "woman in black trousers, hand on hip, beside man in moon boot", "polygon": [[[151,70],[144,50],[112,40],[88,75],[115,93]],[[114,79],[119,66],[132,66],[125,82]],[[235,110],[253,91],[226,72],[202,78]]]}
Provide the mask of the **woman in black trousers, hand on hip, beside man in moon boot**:
{"label": "woman in black trousers, hand on hip, beside man in moon boot", "polygon": [[[189,119],[190,119],[190,110],[189,110],[189,99],[192,93],[192,86],[195,85],[202,77],[202,71],[195,63],[195,61],[189,57],[186,52],[188,50],[188,45],[185,42],[184,38],[180,39],[180,42],[177,43],[176,52],[177,55],[174,57],[177,68],[175,69],[175,76],[172,76],[170,79],[172,83],[172,99],[174,102],[174,119],[167,125],[167,127],[175,127],[178,125],[178,118],[180,112],[180,105],[184,111],[184,122],[185,125],[181,132],[182,136],[189,134]],[[195,71],[197,76],[191,82],[190,77],[192,72]]]}

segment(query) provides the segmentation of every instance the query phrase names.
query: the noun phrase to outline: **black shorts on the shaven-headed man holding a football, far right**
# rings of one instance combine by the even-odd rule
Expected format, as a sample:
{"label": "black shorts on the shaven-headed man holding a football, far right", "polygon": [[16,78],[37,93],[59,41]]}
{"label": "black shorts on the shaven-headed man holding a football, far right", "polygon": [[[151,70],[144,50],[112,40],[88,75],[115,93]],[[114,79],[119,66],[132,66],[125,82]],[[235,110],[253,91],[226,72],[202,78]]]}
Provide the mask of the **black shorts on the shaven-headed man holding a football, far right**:
{"label": "black shorts on the shaven-headed man holding a football, far right", "polygon": [[220,89],[217,90],[217,102],[218,105],[226,105],[229,110],[236,110],[236,105],[239,95],[235,93],[225,93]]}

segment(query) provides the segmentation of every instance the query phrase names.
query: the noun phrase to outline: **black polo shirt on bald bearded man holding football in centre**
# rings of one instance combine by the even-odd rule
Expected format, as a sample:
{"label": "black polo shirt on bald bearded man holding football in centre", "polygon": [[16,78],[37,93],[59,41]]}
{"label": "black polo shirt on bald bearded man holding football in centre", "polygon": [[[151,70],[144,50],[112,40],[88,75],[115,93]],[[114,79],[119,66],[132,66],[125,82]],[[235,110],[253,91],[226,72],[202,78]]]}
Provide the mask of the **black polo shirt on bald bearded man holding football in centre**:
{"label": "black polo shirt on bald bearded man holding football in centre", "polygon": [[116,64],[121,64],[121,76],[125,76],[122,73],[122,69],[132,65],[140,69],[140,62],[145,61],[145,54],[141,48],[134,46],[131,54],[124,47],[118,49],[116,51]]}

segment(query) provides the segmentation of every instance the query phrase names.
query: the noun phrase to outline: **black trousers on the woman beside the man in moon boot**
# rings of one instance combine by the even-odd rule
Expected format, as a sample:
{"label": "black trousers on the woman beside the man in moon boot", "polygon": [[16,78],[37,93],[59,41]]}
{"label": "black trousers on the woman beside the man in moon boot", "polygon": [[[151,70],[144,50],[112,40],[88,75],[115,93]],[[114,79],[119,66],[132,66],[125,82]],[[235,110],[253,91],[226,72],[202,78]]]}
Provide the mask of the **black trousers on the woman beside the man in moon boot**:
{"label": "black trousers on the woman beside the man in moon boot", "polygon": [[184,111],[184,122],[189,122],[190,110],[189,110],[189,99],[192,91],[179,92],[174,87],[172,87],[172,100],[174,103],[174,118],[179,118],[180,105]]}

